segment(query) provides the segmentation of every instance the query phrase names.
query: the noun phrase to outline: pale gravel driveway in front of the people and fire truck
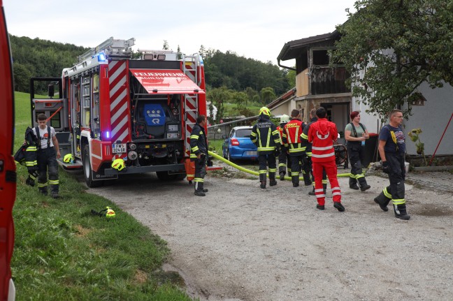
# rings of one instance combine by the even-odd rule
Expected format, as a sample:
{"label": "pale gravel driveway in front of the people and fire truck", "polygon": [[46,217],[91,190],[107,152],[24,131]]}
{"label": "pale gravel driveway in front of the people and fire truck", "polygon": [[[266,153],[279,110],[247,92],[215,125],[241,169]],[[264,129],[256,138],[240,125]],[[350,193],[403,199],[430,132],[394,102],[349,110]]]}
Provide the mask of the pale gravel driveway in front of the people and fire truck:
{"label": "pale gravel driveway in front of the people and fire truck", "polygon": [[[340,170],[343,172],[343,170]],[[453,196],[406,186],[410,221],[340,178],[345,212],[290,182],[206,177],[208,196],[153,175],[90,189],[168,242],[169,263],[201,300],[453,300]],[[134,196],[134,197],[132,197]]]}

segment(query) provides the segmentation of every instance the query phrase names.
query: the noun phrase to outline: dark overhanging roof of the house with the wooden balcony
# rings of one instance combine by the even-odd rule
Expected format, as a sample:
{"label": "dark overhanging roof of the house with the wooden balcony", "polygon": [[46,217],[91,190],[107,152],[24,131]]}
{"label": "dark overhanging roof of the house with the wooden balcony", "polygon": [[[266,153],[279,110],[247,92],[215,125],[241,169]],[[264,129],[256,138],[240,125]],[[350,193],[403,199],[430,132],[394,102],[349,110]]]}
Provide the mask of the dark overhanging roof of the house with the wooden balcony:
{"label": "dark overhanging roof of the house with the wooden balcony", "polygon": [[277,60],[287,61],[288,59],[295,59],[296,57],[299,57],[301,52],[308,50],[308,47],[324,41],[335,40],[338,36],[340,36],[340,33],[336,30],[329,32],[329,34],[319,34],[317,36],[310,36],[308,38],[287,42],[280,51],[280,54],[278,54]]}

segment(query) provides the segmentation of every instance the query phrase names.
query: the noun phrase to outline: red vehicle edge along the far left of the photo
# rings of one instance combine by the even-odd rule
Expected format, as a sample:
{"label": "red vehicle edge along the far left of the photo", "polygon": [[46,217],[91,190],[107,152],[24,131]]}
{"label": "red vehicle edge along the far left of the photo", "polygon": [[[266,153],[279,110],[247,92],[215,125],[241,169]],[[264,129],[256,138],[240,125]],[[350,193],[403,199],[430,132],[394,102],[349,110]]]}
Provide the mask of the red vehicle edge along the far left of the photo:
{"label": "red vehicle edge along the far left of the photo", "polygon": [[[14,87],[8,31],[0,0],[0,300],[8,300],[14,247],[13,205],[16,195]],[[11,296],[10,296],[11,297]]]}

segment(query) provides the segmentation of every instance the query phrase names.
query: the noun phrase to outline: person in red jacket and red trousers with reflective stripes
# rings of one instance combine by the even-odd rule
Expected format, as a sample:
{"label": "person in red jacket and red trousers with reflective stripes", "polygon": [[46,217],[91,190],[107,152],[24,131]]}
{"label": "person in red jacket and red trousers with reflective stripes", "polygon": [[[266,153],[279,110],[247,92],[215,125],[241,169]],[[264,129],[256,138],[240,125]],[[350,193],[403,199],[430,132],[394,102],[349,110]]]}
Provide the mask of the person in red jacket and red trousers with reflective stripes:
{"label": "person in red jacket and red trousers with reflective stripes", "polygon": [[308,142],[312,143],[312,167],[315,177],[315,196],[317,198],[317,209],[324,210],[326,195],[322,188],[322,170],[326,170],[327,177],[331,184],[333,207],[340,212],[345,211],[341,205],[341,191],[337,179],[337,167],[335,163],[335,150],[333,142],[337,140],[338,130],[333,122],[326,119],[326,109],[316,110],[317,122],[310,126],[308,131]]}

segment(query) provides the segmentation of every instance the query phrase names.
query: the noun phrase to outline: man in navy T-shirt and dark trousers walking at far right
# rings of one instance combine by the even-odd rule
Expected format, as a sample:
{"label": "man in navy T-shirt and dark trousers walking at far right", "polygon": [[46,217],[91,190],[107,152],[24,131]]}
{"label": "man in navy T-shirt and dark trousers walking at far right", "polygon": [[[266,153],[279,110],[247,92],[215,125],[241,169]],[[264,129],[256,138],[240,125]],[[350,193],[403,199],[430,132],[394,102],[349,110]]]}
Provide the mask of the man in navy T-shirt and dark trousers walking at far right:
{"label": "man in navy T-shirt and dark trousers walking at far right", "polygon": [[382,210],[388,211],[390,200],[394,205],[395,216],[398,219],[410,219],[405,205],[405,137],[401,124],[403,113],[401,110],[392,110],[389,115],[389,124],[382,127],[379,134],[379,154],[382,159],[382,170],[389,175],[390,185],[374,200]]}

